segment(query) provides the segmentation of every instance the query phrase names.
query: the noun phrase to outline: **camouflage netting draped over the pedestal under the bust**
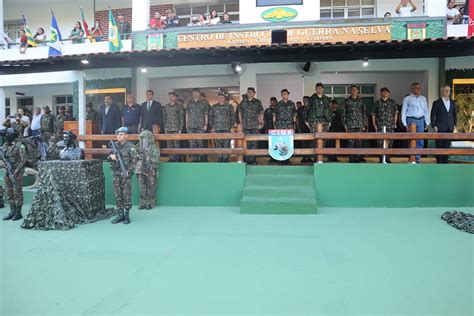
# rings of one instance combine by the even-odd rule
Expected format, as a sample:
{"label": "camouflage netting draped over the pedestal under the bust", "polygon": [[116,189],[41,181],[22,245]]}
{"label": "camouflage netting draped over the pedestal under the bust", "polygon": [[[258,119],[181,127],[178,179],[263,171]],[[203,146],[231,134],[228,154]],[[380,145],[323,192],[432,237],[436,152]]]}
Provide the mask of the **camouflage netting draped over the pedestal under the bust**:
{"label": "camouflage netting draped over the pedestal under the bust", "polygon": [[105,208],[105,179],[100,160],[42,161],[40,188],[21,227],[68,230],[115,215]]}

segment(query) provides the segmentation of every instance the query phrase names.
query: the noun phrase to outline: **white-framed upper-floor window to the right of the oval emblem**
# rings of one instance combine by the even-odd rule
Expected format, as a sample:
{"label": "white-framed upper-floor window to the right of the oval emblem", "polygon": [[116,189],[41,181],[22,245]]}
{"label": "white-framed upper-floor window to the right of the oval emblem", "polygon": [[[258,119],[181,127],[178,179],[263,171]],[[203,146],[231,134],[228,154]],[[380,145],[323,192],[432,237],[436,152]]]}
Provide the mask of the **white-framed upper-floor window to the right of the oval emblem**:
{"label": "white-framed upper-floor window to the right of the oval emblem", "polygon": [[321,20],[374,18],[375,0],[321,0]]}

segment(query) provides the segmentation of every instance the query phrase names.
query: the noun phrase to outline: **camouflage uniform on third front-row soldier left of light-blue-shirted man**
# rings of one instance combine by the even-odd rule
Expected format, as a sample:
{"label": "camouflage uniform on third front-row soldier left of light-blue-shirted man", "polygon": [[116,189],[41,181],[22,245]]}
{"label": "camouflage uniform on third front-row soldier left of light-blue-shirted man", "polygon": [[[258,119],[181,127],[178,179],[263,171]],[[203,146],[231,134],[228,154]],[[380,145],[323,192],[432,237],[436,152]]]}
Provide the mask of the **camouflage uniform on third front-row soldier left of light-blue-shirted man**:
{"label": "camouflage uniform on third front-row soldier left of light-blue-shirted man", "polygon": [[323,124],[323,132],[327,132],[329,123],[332,120],[331,111],[329,111],[329,104],[331,99],[323,95],[321,98],[314,93],[308,100],[308,105],[305,106],[305,120],[309,124],[310,132],[316,132],[316,125]]}

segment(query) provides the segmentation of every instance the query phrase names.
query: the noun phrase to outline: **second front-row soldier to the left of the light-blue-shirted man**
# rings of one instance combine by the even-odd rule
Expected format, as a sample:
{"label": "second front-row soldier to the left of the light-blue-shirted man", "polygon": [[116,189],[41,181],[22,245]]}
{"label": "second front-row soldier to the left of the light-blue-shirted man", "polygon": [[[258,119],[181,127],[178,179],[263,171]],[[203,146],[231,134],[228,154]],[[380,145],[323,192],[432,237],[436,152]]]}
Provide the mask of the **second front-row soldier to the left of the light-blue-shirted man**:
{"label": "second front-row soldier to the left of the light-blue-shirted man", "polygon": [[[365,109],[364,102],[359,96],[359,88],[357,86],[351,86],[351,95],[344,100],[343,103],[343,122],[346,132],[348,133],[360,133],[367,128],[367,112]],[[348,148],[361,148],[361,140],[350,139],[347,142]],[[358,155],[351,155],[349,162],[361,162],[364,161]]]}

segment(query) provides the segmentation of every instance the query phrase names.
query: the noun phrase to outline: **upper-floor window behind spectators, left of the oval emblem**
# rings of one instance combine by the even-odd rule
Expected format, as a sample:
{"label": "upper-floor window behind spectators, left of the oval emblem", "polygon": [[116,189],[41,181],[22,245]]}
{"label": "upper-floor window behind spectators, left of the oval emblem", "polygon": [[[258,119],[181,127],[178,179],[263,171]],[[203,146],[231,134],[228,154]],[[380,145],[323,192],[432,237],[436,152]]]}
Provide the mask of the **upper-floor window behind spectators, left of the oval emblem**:
{"label": "upper-floor window behind spectators, left of the oval emblem", "polygon": [[216,10],[217,14],[222,18],[224,12],[228,12],[230,20],[232,22],[239,21],[239,3],[217,3],[217,4],[195,4],[192,6],[179,6],[175,7],[176,15],[179,17],[179,25],[187,26],[191,25],[192,18],[197,17],[199,14],[207,16],[212,10]]}

